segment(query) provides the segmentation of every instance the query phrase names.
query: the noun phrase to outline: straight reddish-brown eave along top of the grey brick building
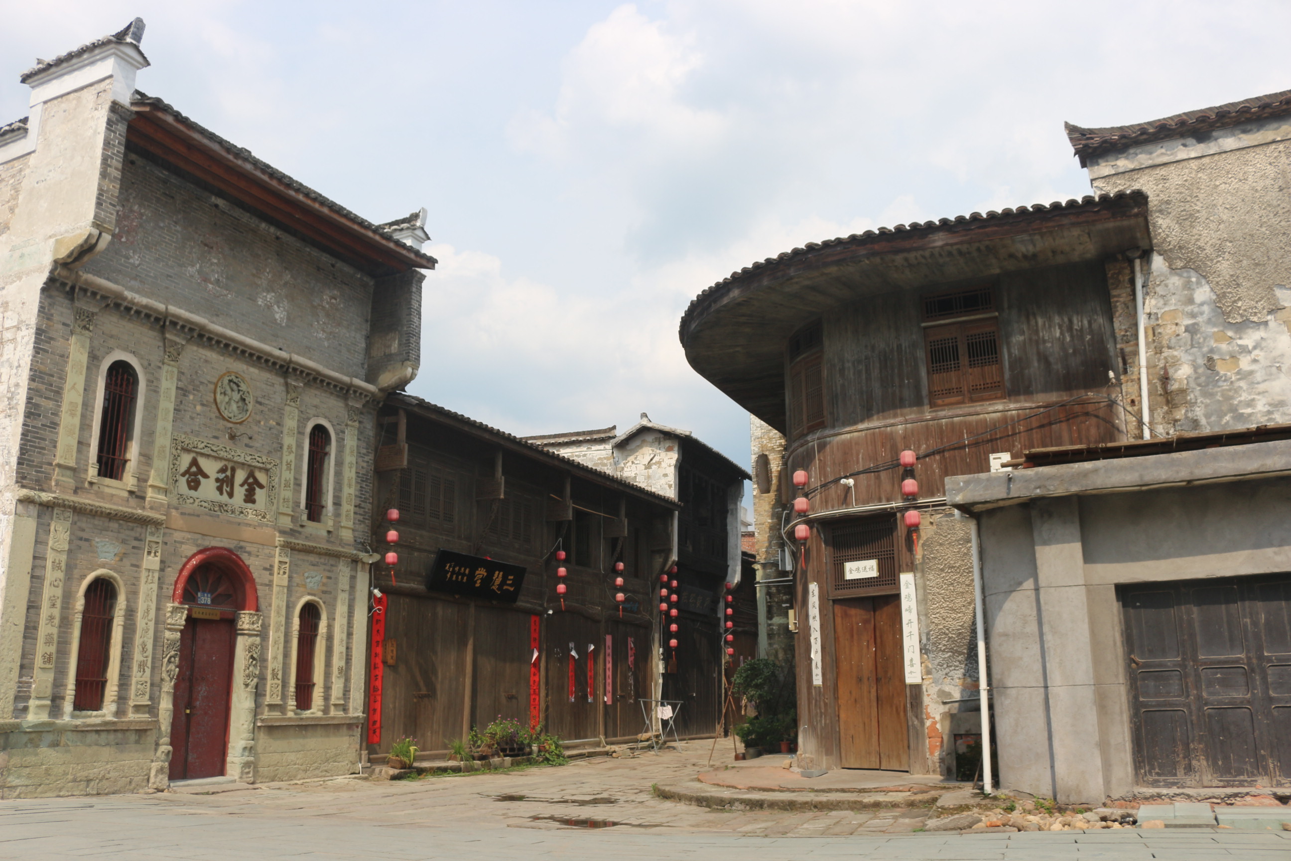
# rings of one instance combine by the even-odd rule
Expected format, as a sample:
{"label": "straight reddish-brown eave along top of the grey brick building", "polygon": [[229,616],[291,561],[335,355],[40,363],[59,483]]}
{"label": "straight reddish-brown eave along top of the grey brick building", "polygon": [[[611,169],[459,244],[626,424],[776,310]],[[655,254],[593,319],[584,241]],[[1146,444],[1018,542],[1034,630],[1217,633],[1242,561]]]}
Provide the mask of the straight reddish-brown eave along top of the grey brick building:
{"label": "straight reddish-brown eave along top of the grey brick building", "polygon": [[[386,236],[374,226],[328,207],[298,186],[243,157],[205,129],[186,123],[156,99],[136,101],[127,143],[199,179],[266,221],[300,236],[359,271],[380,278],[435,268],[430,254]],[[276,176],[275,176],[276,174]]]}

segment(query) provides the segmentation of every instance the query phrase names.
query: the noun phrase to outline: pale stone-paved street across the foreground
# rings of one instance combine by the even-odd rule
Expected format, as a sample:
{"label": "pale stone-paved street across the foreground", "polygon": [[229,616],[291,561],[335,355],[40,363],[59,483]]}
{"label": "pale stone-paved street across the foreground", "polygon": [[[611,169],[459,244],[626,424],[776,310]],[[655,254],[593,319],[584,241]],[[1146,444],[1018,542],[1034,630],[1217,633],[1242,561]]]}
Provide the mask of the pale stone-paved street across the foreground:
{"label": "pale stone-paved street across the foreground", "polygon": [[4,802],[0,857],[216,861],[254,846],[261,858],[1291,858],[1285,831],[962,836],[915,833],[914,811],[711,811],[652,795],[653,782],[693,776],[707,751],[686,742],[496,775]]}

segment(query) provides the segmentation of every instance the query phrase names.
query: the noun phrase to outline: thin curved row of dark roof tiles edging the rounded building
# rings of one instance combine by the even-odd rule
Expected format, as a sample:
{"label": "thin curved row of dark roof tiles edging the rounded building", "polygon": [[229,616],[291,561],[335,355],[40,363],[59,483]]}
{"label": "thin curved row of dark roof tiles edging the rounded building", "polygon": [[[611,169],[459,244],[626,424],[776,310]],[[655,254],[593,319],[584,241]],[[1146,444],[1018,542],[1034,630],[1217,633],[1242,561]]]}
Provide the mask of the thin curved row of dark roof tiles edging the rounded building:
{"label": "thin curved row of dark roof tiles edging the rounded building", "polygon": [[[820,252],[824,248],[839,248],[842,250],[848,249],[864,249],[865,245],[875,244],[880,241],[887,241],[891,239],[892,234],[910,234],[910,239],[915,240],[919,234],[931,232],[933,230],[975,230],[977,227],[986,227],[995,223],[1008,223],[1008,221],[1030,222],[1037,217],[1046,217],[1052,214],[1064,214],[1073,210],[1081,209],[1095,209],[1103,204],[1113,200],[1128,199],[1128,198],[1143,198],[1141,191],[1118,191],[1114,195],[1086,195],[1079,200],[1074,198],[1066,203],[1055,200],[1050,205],[1033,204],[1030,207],[1016,207],[1004,208],[999,212],[994,209],[982,214],[975,212],[968,216],[955,216],[954,218],[939,218],[937,221],[926,222],[910,222],[909,225],[897,225],[896,227],[879,227],[878,230],[866,230],[864,234],[852,234],[851,236],[839,236],[837,239],[826,239],[820,243],[807,243],[803,248],[795,248],[789,252],[781,252],[775,257],[768,257],[763,261],[757,261],[750,266],[745,266],[738,272],[731,272],[727,278],[722,279],[713,287],[706,288],[702,293],[691,301],[691,305],[686,309],[686,314],[682,315],[682,323],[679,327],[679,334],[684,338],[687,321],[692,315],[698,314],[715,301],[729,284],[738,281],[740,279],[747,278],[755,272],[760,272],[766,267],[781,267],[790,268],[793,265],[803,258],[811,257],[812,254]],[[684,342],[684,341],[683,341]]]}

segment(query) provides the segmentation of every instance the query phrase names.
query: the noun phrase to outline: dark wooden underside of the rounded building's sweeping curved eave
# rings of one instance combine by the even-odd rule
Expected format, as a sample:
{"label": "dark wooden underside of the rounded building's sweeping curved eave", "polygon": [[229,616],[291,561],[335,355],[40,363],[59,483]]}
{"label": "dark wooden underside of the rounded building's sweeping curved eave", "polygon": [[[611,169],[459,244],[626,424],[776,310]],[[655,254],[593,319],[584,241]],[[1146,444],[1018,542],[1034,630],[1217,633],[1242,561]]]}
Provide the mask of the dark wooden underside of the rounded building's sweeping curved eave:
{"label": "dark wooden underside of the rounded building's sweeping curved eave", "polygon": [[679,336],[692,368],[785,432],[785,341],[831,309],[1150,247],[1141,192],[900,225],[809,243],[733,272],[691,303]]}

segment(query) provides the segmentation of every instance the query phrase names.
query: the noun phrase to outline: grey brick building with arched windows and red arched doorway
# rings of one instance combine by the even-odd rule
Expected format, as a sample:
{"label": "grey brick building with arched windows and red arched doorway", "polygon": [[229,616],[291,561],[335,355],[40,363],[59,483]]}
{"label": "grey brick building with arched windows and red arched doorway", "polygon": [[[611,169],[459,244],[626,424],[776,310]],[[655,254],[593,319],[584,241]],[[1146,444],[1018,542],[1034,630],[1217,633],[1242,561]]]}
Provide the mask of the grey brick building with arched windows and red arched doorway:
{"label": "grey brick building with arched windows and red arched doorway", "polygon": [[138,93],[142,34],[40,62],[0,125],[4,798],[359,762],[425,210],[369,223]]}

